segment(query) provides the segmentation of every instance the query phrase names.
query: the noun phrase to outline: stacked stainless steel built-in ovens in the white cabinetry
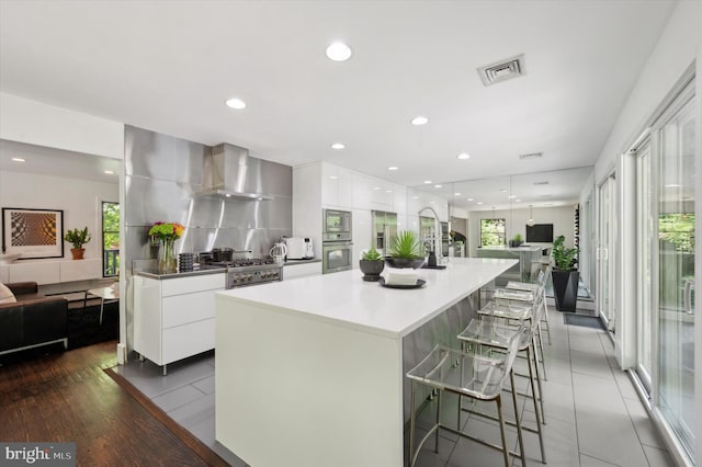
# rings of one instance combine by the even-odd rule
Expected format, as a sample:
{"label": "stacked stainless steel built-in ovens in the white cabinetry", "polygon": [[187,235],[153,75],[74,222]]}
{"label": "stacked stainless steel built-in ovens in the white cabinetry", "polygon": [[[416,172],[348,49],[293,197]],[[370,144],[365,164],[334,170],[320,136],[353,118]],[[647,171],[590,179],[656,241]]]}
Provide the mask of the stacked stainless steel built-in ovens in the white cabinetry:
{"label": "stacked stainless steel built-in ovens in the white cabinetry", "polygon": [[321,273],[348,271],[353,266],[351,212],[322,209]]}

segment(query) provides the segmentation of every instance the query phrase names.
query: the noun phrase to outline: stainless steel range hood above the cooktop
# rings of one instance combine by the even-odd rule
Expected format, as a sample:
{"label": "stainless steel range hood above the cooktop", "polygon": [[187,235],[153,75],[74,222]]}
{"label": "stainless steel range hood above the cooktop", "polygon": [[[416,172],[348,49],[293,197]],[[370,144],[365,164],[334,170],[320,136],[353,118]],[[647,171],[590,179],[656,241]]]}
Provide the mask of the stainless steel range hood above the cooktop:
{"label": "stainless steel range hood above the cooktop", "polygon": [[262,187],[265,162],[249,157],[249,150],[226,143],[213,146],[205,157],[203,186],[195,196],[239,201],[271,201]]}

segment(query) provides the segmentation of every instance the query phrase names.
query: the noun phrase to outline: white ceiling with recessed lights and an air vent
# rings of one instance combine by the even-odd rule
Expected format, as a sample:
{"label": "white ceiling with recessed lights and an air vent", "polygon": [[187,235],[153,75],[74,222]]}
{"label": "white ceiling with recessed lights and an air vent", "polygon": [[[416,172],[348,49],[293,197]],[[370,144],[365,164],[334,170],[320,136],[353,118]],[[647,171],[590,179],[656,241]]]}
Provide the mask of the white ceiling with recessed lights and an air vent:
{"label": "white ceiling with recessed lights and an air vent", "polygon": [[[0,90],[405,185],[580,168],[599,157],[673,8],[2,0]],[[346,62],[325,56],[339,39],[353,49]],[[524,77],[483,86],[478,67],[518,54]],[[233,96],[247,109],[226,107]],[[416,115],[429,124],[410,125]],[[456,159],[463,151],[469,160]],[[543,158],[518,158],[536,151]]]}

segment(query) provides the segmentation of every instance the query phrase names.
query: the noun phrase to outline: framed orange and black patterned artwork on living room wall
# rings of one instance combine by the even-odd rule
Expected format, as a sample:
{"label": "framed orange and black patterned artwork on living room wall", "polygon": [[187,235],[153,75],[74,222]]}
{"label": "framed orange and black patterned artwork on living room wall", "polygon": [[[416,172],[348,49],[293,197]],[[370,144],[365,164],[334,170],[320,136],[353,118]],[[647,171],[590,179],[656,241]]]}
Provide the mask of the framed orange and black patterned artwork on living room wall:
{"label": "framed orange and black patterned artwork on living room wall", "polygon": [[2,208],[2,250],[19,259],[64,257],[64,212]]}

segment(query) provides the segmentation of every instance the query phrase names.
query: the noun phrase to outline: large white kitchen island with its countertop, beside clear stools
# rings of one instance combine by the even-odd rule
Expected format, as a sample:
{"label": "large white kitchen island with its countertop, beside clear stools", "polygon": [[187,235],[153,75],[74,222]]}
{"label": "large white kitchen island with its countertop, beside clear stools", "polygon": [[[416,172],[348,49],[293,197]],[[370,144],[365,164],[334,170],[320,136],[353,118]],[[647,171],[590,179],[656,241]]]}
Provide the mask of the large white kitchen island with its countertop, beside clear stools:
{"label": "large white kitchen island with its countertop, beside clear stools", "polygon": [[253,467],[401,466],[409,346],[454,339],[444,315],[516,262],[452,259],[417,289],[353,270],[217,293],[216,440]]}

